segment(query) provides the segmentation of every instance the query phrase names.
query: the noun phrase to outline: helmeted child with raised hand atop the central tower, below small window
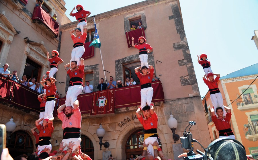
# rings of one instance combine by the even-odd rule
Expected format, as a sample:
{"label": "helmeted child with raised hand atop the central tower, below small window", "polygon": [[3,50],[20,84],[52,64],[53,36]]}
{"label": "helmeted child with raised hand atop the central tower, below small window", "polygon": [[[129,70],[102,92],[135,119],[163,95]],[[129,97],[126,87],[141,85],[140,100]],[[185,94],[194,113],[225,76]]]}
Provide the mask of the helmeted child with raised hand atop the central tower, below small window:
{"label": "helmeted child with raised hand atop the central tower, below small window", "polygon": [[[153,51],[153,48],[146,43],[146,39],[144,37],[139,37],[138,42],[139,45],[134,45],[134,37],[132,37],[132,46],[139,50],[139,58],[141,61],[141,67],[146,66],[149,69],[148,65],[148,53]],[[149,51],[147,51],[149,49]]]}

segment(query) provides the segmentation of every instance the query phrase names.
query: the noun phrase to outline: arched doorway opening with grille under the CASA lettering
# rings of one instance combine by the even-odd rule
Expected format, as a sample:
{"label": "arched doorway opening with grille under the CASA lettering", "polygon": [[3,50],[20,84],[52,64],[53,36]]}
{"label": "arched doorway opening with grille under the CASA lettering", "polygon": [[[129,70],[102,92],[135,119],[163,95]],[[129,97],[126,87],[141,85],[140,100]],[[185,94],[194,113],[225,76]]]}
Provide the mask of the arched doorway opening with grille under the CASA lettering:
{"label": "arched doorway opening with grille under the CASA lettering", "polygon": [[[140,129],[132,133],[126,141],[126,158],[130,158],[131,154],[136,157],[142,155],[143,151],[143,139],[144,139],[144,129]],[[161,147],[161,142],[158,137],[159,146]],[[161,147],[162,148],[162,147]]]}

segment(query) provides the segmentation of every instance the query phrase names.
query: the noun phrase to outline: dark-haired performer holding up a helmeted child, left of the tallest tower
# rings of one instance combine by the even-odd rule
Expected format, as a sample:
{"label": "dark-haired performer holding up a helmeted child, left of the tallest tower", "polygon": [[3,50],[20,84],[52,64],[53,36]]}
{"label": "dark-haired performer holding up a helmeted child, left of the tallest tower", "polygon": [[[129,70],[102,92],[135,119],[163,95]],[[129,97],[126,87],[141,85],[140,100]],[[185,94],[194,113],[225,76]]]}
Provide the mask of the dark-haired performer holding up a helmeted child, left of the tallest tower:
{"label": "dark-haired performer holding up a helmeted child, left of the tallest tower", "polygon": [[[45,85],[45,82],[47,83]],[[41,81],[41,85],[46,89],[46,106],[45,106],[45,113],[44,119],[53,118],[53,111],[55,106],[55,95],[56,95],[56,79],[54,77],[50,77],[50,79]]]}

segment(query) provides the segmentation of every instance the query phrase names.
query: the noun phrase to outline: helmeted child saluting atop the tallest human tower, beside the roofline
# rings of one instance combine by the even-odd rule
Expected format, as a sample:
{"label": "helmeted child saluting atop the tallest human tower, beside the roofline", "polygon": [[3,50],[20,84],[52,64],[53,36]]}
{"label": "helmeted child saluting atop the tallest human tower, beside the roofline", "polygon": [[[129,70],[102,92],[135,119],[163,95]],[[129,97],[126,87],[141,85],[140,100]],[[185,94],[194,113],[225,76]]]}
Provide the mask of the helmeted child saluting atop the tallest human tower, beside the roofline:
{"label": "helmeted child saluting atop the tallest human tower, beside the roofline", "polygon": [[77,9],[77,12],[73,13],[73,10],[75,10],[75,6],[74,6],[74,8],[71,11],[70,15],[73,16],[73,17],[75,16],[75,18],[77,20],[79,20],[79,23],[78,23],[76,28],[80,28],[81,29],[81,34],[83,34],[83,27],[87,26],[86,18],[91,14],[91,12],[85,11],[83,9],[83,6],[80,5],[80,4],[76,6],[76,9]]}

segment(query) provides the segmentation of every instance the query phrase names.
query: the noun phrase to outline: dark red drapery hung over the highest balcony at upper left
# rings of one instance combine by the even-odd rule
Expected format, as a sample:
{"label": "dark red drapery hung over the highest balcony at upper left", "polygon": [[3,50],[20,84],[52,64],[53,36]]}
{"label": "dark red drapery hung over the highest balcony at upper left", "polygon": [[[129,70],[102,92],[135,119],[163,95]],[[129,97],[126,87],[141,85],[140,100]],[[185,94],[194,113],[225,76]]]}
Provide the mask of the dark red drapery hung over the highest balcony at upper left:
{"label": "dark red drapery hung over the highest balcony at upper left", "polygon": [[46,24],[46,26],[48,26],[48,28],[57,36],[59,24],[40,6],[34,8],[32,19],[38,19]]}

